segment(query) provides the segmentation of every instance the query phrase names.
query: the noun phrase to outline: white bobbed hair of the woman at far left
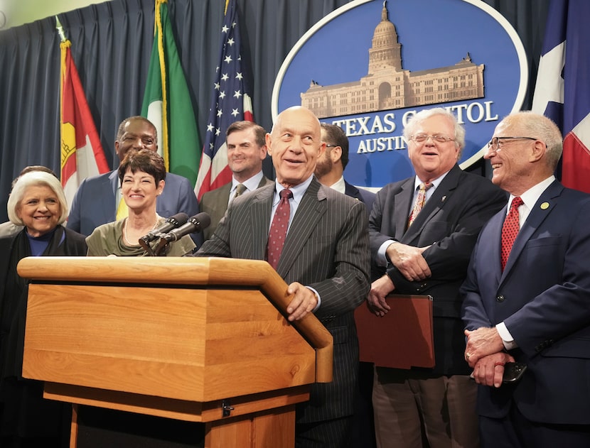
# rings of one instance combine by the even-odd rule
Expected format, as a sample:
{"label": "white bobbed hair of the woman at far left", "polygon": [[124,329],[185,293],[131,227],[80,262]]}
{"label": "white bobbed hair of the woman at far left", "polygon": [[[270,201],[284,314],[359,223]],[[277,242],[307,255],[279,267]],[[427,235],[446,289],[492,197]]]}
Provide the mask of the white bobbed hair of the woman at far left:
{"label": "white bobbed hair of the woman at far left", "polygon": [[25,225],[23,220],[16,215],[16,209],[20,207],[21,201],[23,200],[28,187],[41,185],[50,187],[50,189],[53,190],[55,195],[58,197],[58,201],[60,202],[61,206],[61,216],[58,219],[58,224],[63,224],[65,219],[68,218],[68,201],[65,200],[63,187],[61,186],[58,178],[43,171],[31,171],[18,177],[18,180],[14,184],[14,188],[10,193],[9,202],[6,209],[12,224],[17,226]]}

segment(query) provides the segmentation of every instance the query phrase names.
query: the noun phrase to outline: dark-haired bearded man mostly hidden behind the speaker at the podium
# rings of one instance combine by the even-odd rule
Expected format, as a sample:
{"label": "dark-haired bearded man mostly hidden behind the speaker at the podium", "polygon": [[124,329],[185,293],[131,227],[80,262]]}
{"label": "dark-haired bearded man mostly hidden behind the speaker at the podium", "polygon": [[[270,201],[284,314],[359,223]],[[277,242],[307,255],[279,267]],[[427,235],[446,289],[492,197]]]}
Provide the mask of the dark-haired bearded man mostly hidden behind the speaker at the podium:
{"label": "dark-haired bearded man mostly hidden behind the speaker at the podium", "polygon": [[357,188],[344,179],[343,173],[348,165],[348,137],[340,126],[321,124],[321,140],[326,143],[326,151],[318,157],[315,175],[318,181],[350,197],[355,197],[367,206],[370,213],[375,193]]}

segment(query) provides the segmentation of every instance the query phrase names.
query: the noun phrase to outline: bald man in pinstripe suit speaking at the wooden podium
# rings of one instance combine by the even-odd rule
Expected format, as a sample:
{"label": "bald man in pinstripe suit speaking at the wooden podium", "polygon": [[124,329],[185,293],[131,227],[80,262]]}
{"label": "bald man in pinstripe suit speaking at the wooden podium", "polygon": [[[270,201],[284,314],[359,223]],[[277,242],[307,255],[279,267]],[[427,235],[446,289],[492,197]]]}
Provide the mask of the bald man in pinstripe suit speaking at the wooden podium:
{"label": "bald man in pinstripe suit speaking at the wooden podium", "polygon": [[277,173],[274,185],[237,197],[212,239],[196,256],[266,258],[269,227],[279,192],[289,188],[290,215],[277,272],[294,294],[289,320],[313,312],[334,339],[334,379],[314,384],[311,398],[297,409],[296,447],[345,446],[353,415],[358,370],[358,339],[353,311],[370,288],[365,204],[315,177],[325,151],[320,124],[309,109],[286,109],[267,134]]}

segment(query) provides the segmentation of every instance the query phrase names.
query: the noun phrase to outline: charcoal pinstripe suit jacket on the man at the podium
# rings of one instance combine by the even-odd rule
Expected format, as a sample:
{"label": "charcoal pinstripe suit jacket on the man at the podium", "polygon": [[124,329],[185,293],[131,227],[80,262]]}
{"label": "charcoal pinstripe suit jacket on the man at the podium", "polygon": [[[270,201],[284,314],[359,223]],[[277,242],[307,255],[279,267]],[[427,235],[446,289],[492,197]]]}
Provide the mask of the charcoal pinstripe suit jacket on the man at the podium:
{"label": "charcoal pinstripe suit jacket on the man at the podium", "polygon": [[[247,192],[232,201],[213,237],[195,256],[264,260],[275,185]],[[369,248],[363,202],[321,185],[315,178],[289,227],[277,272],[287,284],[316,290],[315,315],[333,336],[333,382],[316,383],[298,422],[317,422],[353,414],[358,379],[355,310],[367,297]]]}

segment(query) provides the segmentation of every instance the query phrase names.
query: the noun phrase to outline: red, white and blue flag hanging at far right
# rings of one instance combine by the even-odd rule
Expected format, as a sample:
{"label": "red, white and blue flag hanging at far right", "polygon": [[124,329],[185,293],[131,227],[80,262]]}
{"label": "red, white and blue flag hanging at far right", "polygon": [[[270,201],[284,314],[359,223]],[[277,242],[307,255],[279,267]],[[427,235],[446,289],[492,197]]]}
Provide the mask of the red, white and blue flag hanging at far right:
{"label": "red, white and blue flag hanging at far right", "polygon": [[564,136],[562,183],[590,193],[590,1],[552,0],[532,110]]}

